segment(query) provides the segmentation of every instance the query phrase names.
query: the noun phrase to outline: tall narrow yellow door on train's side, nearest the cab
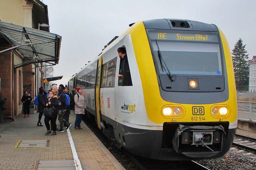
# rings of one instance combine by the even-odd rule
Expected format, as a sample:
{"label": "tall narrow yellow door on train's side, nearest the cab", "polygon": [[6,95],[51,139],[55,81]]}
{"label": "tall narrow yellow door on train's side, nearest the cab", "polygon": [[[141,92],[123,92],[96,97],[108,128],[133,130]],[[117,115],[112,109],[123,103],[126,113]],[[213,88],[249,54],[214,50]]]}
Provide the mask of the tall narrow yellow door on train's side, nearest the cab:
{"label": "tall narrow yellow door on train's side, nearest the cab", "polygon": [[99,58],[98,60],[98,66],[97,66],[97,79],[96,79],[96,89],[95,89],[95,104],[96,104],[96,123],[98,125],[98,128],[101,129],[100,127],[100,121],[101,121],[101,116],[100,116],[100,75],[101,75],[101,69],[102,68],[102,57]]}

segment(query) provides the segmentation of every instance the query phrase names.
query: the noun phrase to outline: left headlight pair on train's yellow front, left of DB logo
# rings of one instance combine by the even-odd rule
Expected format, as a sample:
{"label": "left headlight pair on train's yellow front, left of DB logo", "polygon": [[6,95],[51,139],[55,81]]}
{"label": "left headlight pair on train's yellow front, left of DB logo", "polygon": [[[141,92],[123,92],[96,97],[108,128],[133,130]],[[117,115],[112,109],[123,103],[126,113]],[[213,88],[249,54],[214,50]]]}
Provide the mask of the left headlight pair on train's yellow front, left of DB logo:
{"label": "left headlight pair on train's yellow front, left of DB logo", "polygon": [[184,107],[180,106],[180,105],[176,105],[176,106],[173,106],[173,105],[166,105],[164,107],[162,107],[162,110],[161,110],[161,113],[162,115],[165,117],[165,118],[169,118],[169,119],[172,119],[172,118],[181,118],[185,111],[184,111]]}

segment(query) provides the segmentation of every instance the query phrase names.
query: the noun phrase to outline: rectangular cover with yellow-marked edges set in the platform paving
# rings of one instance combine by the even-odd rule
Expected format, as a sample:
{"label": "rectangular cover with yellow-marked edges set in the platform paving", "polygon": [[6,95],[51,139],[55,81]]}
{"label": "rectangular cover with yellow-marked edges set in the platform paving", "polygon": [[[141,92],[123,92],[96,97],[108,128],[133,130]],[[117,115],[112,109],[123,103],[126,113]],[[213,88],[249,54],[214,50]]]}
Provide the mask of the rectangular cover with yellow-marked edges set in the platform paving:
{"label": "rectangular cover with yellow-marked edges set in the platform paving", "polygon": [[49,140],[19,140],[14,148],[45,148],[49,147]]}

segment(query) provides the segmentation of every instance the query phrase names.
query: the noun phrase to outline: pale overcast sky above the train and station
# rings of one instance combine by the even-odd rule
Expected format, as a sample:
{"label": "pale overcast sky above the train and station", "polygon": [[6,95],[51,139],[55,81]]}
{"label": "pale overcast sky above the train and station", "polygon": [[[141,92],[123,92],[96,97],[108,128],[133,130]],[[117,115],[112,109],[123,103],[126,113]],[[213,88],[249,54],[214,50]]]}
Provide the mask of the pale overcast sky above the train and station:
{"label": "pale overcast sky above the train and station", "polygon": [[251,59],[256,55],[256,0],[42,0],[50,32],[62,36],[53,76],[67,84],[114,36],[136,21],[175,18],[213,23],[234,48],[239,38]]}

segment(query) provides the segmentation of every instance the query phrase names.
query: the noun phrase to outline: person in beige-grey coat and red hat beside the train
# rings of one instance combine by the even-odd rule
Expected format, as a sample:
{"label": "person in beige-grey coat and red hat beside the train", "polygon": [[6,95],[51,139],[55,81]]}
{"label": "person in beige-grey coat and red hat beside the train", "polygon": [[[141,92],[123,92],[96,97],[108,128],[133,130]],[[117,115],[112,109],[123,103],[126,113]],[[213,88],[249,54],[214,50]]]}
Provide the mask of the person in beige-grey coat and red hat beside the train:
{"label": "person in beige-grey coat and red hat beside the train", "polygon": [[75,129],[83,129],[81,127],[82,117],[85,113],[85,100],[84,95],[82,94],[82,88],[77,87],[77,94],[74,96],[75,101],[75,114],[76,114],[76,121],[75,121]]}

